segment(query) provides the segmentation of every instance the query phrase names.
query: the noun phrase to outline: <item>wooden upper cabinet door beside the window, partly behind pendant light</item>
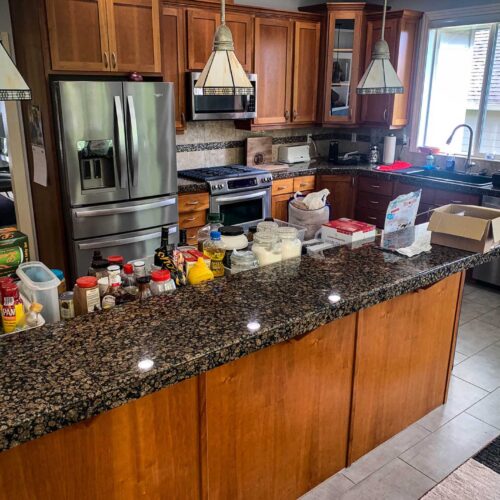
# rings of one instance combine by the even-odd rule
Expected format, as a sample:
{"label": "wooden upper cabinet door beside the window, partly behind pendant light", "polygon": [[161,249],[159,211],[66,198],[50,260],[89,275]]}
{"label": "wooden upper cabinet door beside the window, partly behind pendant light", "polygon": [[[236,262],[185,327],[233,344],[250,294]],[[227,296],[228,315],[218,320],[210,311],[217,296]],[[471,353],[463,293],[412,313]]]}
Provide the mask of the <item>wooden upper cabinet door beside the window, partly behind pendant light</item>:
{"label": "wooden upper cabinet door beside the window, partly behind pendant light", "polygon": [[[369,21],[366,37],[366,58],[365,69],[372,59],[372,50],[375,43],[382,36],[382,21]],[[397,67],[397,38],[398,38],[398,20],[387,19],[385,26],[385,40],[389,45],[391,52],[391,63]],[[392,122],[392,110],[394,106],[394,95],[379,94],[363,96],[361,104],[361,121],[372,125],[387,126]]]}

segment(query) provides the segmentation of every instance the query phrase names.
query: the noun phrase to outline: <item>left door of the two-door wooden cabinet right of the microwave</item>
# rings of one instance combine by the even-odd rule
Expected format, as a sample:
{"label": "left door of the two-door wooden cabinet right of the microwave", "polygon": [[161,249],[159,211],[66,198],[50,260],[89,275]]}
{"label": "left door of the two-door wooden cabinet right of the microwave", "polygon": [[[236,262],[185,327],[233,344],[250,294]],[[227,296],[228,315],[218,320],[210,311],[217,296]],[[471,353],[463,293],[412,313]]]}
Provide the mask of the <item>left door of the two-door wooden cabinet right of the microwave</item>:
{"label": "left door of the two-door wooden cabinet right of the microwave", "polygon": [[287,20],[255,19],[258,125],[290,123],[292,31]]}

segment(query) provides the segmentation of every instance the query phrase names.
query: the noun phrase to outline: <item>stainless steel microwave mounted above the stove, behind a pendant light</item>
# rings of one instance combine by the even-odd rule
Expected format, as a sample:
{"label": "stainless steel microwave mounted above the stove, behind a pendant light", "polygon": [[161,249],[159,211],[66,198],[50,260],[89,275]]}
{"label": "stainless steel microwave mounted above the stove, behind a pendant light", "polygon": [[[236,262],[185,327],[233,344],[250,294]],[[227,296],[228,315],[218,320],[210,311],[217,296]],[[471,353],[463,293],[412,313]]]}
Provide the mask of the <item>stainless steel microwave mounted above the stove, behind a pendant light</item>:
{"label": "stainless steel microwave mounted above the stove, behind a pendant light", "polygon": [[257,75],[248,74],[254,94],[247,95],[194,95],[194,86],[201,73],[189,73],[191,119],[198,120],[246,120],[257,116]]}

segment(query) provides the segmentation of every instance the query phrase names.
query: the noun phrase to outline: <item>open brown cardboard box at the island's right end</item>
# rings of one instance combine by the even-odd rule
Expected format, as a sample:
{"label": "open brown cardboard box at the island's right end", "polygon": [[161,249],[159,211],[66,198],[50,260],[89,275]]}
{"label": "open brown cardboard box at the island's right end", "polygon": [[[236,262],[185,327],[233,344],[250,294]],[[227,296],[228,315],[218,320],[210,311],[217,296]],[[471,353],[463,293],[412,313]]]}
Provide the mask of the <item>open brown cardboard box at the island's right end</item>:
{"label": "open brown cardboard box at the island's right end", "polygon": [[474,205],[436,208],[429,222],[431,243],[487,252],[500,242],[500,210]]}

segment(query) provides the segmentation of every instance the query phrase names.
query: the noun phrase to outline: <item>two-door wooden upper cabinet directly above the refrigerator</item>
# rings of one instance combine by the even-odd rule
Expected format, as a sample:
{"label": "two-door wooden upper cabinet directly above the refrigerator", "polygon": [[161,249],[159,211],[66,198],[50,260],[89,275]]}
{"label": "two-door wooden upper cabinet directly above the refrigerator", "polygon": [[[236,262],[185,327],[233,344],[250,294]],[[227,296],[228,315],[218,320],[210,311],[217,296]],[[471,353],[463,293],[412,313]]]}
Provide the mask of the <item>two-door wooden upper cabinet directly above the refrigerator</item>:
{"label": "two-door wooden upper cabinet directly above the refrigerator", "polygon": [[45,0],[54,71],[161,70],[159,0]]}

